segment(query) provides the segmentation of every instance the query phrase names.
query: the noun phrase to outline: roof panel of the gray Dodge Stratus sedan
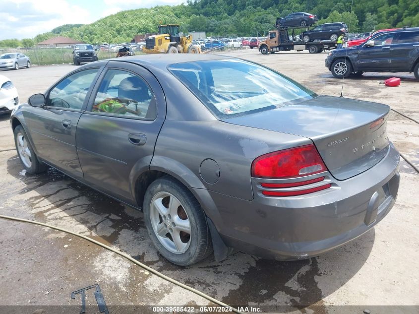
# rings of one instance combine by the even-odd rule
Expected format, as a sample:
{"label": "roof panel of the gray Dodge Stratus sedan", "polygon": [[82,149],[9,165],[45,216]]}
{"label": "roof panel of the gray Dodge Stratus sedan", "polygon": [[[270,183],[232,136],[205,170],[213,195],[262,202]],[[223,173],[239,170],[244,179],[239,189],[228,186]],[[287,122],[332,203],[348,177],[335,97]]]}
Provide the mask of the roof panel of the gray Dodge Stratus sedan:
{"label": "roof panel of the gray Dodge Stratus sedan", "polygon": [[204,55],[204,54],[155,54],[155,55],[141,55],[132,57],[122,57],[111,59],[110,61],[130,62],[143,65],[149,69],[166,69],[166,67],[173,63],[187,63],[194,61],[206,60],[225,60],[237,59],[222,55]]}

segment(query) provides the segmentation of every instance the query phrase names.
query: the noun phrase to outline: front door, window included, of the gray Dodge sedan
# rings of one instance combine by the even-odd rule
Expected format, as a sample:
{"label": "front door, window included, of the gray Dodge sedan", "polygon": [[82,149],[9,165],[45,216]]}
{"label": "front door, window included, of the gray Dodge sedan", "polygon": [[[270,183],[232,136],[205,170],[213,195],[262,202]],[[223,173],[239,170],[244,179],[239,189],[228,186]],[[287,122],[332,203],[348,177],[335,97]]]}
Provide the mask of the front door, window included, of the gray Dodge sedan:
{"label": "front door, window included, of the gray Dodge sedan", "polygon": [[38,156],[76,178],[83,173],[76,151],[76,128],[99,67],[72,73],[46,93],[44,107],[30,107],[25,119]]}

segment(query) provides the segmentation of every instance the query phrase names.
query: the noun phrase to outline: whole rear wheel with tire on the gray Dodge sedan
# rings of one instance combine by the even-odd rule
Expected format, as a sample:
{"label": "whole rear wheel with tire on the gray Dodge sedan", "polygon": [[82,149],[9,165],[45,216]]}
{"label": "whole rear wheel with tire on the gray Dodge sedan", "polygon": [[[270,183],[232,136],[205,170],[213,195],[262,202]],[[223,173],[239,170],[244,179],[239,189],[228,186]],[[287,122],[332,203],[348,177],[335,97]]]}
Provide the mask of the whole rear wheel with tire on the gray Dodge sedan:
{"label": "whole rear wheel with tire on the gray Dodge sedan", "polygon": [[201,205],[185,186],[169,176],[147,188],[144,221],[157,251],[176,265],[195,264],[212,252]]}

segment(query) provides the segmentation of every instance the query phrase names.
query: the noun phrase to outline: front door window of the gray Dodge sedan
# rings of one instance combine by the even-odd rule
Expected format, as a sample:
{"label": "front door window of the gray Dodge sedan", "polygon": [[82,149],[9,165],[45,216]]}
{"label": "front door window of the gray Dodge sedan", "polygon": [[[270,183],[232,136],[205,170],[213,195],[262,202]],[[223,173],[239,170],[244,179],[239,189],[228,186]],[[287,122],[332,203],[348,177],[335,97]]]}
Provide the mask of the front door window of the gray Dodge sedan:
{"label": "front door window of the gray Dodge sedan", "polygon": [[48,94],[47,106],[81,110],[98,71],[99,68],[90,68],[64,78]]}

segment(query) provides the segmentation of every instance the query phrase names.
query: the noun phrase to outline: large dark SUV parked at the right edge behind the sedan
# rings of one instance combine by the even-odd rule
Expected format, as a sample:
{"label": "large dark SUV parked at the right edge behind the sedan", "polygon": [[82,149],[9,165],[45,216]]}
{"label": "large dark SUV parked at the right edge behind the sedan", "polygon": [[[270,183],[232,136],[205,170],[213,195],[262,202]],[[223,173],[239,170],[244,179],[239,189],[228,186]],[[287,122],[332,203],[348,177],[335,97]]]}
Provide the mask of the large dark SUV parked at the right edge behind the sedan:
{"label": "large dark SUV parked at the right edge behind the sedan", "polygon": [[380,33],[363,45],[336,49],[325,64],[338,78],[363,72],[414,72],[419,79],[419,27]]}

